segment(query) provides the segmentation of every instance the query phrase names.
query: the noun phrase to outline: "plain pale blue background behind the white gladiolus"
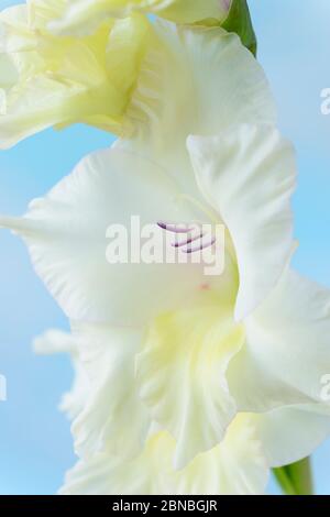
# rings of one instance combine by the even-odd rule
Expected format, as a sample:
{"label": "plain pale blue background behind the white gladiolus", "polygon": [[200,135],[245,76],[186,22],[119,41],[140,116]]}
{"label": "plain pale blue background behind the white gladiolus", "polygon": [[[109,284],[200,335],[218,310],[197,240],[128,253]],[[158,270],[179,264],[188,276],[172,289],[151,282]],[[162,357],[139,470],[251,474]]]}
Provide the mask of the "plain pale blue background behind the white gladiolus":
{"label": "plain pale blue background behind the white gladiolus", "polygon": [[[1,8],[14,3],[0,0]],[[330,2],[250,0],[250,6],[280,128],[297,150],[295,265],[330,287],[330,116],[320,112],[320,91],[330,88]],[[110,141],[106,133],[75,127],[48,130],[1,152],[0,212],[23,213],[32,198]],[[8,378],[8,402],[0,403],[0,494],[53,494],[75,461],[69,425],[56,410],[70,385],[69,362],[31,350],[33,337],[50,327],[66,329],[67,321],[34,275],[24,245],[1,232],[0,374]],[[314,468],[317,493],[330,494],[330,441],[315,453]]]}

